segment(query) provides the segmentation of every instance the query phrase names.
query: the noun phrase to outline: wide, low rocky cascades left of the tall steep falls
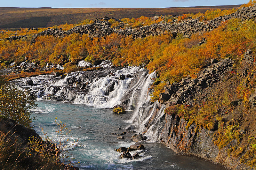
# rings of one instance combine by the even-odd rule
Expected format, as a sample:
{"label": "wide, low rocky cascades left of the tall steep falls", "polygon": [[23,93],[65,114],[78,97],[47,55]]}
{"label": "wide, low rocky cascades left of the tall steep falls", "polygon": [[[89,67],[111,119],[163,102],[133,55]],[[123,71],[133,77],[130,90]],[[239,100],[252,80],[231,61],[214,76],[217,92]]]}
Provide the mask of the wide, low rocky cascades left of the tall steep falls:
{"label": "wide, low rocky cascades left of the tall steep falls", "polygon": [[[141,67],[106,68],[105,70],[77,71],[60,79],[53,75],[32,78],[33,85],[27,85],[31,78],[14,80],[18,86],[35,94],[37,100],[73,101],[94,107],[114,107],[128,90],[132,75],[145,71]],[[120,75],[126,75],[120,79]],[[129,76],[130,75],[130,76]],[[87,77],[86,77],[87,76]]]}

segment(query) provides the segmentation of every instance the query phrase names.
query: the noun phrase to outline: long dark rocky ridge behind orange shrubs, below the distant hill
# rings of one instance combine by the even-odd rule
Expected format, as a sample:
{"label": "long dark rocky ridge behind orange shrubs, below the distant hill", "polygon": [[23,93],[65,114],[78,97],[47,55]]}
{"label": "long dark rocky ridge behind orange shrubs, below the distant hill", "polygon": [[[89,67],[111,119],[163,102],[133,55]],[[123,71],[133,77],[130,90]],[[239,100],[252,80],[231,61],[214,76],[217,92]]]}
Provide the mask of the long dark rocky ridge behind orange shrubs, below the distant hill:
{"label": "long dark rocky ridge behind orange shrubs, below the distant hill", "polygon": [[[149,26],[142,26],[139,29],[127,28],[111,28],[111,24],[108,22],[108,17],[103,19],[96,20],[93,24],[84,25],[84,26],[75,26],[68,31],[62,31],[57,28],[48,29],[41,33],[34,35],[34,38],[42,35],[53,35],[53,36],[65,36],[71,33],[80,33],[80,34],[88,34],[90,37],[104,37],[106,35],[110,35],[112,33],[117,33],[119,35],[129,36],[132,35],[133,38],[144,38],[147,36],[154,36],[163,34],[164,32],[172,32],[174,35],[177,33],[182,33],[185,36],[191,36],[194,33],[200,33],[204,31],[211,31],[214,28],[217,28],[222,22],[227,21],[232,18],[241,18],[241,19],[253,19],[256,18],[256,6],[254,7],[242,7],[235,13],[220,16],[218,18],[214,18],[211,21],[200,21],[199,18],[194,19],[185,19],[183,22],[171,22],[171,23],[156,23]],[[9,38],[5,38],[3,40],[18,40],[24,36],[12,36]]]}

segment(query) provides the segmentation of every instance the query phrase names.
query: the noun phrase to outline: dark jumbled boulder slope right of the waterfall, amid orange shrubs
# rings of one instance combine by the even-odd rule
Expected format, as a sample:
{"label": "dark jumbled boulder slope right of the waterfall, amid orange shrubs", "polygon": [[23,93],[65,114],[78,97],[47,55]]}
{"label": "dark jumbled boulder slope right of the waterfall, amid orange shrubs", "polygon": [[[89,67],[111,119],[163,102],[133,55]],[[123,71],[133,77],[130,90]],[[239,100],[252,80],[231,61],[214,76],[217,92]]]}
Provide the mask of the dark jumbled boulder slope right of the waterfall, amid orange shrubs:
{"label": "dark jumbled boulder slope right of the waterfall, amid orange shrubs", "polygon": [[225,58],[220,62],[212,59],[211,65],[201,71],[196,79],[188,77],[183,78],[180,83],[167,82],[164,87],[165,93],[160,93],[159,99],[166,107],[177,104],[193,105],[195,96],[201,94],[204,88],[220,80],[223,74],[232,70],[232,66],[233,60],[230,58]]}

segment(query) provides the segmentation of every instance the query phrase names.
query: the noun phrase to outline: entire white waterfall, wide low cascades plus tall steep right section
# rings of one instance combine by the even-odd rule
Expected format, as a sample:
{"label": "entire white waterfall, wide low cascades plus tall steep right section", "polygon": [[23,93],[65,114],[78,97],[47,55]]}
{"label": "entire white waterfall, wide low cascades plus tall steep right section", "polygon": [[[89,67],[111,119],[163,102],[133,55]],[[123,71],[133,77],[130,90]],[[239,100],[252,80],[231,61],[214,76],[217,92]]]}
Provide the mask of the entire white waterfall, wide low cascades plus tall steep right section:
{"label": "entire white waterfall, wide low cascades plus tall steep right section", "polygon": [[71,101],[100,108],[122,105],[133,110],[127,122],[155,142],[159,141],[164,124],[165,106],[151,101],[154,78],[155,72],[148,74],[141,67],[124,67],[77,71],[61,77],[41,75],[32,78],[33,85],[26,84],[31,78],[12,82],[27,89],[37,100]]}

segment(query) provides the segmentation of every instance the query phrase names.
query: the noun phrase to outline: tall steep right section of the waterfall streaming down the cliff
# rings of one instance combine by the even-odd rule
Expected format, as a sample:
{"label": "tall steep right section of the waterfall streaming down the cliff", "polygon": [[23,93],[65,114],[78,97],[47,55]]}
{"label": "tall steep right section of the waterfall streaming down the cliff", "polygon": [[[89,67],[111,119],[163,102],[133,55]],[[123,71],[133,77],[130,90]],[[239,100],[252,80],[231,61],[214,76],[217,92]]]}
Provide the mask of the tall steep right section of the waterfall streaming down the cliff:
{"label": "tall steep right section of the waterfall streaming down the cliff", "polygon": [[[158,142],[159,135],[161,134],[162,127],[164,125],[164,108],[165,105],[161,105],[159,108],[158,101],[151,104],[149,86],[153,83],[155,78],[155,72],[147,74],[143,81],[139,81],[134,85],[132,97],[129,104],[134,104],[134,100],[137,100],[132,119],[129,123],[132,123],[136,127],[139,133],[145,133],[150,142]],[[142,77],[141,77],[142,78]],[[139,91],[139,92],[138,92]],[[139,94],[139,95],[138,95]]]}

